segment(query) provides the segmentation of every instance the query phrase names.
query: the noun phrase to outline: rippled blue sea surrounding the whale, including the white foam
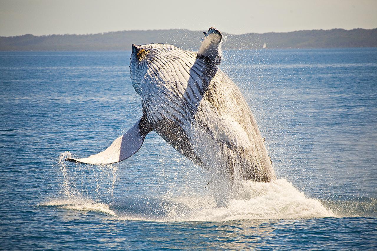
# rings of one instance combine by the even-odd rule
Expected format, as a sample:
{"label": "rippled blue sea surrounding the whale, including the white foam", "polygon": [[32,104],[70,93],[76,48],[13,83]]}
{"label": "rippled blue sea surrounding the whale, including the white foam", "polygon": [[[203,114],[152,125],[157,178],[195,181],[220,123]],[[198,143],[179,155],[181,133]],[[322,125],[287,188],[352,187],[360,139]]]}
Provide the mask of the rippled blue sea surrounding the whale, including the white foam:
{"label": "rippled blue sea surrounding the whale, including the white foam", "polygon": [[377,249],[377,48],[224,52],[278,179],[222,205],[154,132],[118,164],[63,161],[141,117],[129,58],[0,52],[0,249]]}

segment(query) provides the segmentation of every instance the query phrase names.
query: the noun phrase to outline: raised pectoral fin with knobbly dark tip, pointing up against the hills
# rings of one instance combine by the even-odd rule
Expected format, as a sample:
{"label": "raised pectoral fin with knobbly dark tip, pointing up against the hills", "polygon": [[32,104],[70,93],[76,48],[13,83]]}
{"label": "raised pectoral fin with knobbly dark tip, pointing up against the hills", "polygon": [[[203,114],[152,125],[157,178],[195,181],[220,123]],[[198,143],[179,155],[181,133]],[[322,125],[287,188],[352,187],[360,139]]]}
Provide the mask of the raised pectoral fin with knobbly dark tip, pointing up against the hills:
{"label": "raised pectoral fin with knobbly dark tip, pointing up against the hills", "polygon": [[221,63],[221,39],[222,35],[217,29],[211,27],[207,32],[203,32],[202,44],[199,47],[198,57],[208,58],[215,64]]}

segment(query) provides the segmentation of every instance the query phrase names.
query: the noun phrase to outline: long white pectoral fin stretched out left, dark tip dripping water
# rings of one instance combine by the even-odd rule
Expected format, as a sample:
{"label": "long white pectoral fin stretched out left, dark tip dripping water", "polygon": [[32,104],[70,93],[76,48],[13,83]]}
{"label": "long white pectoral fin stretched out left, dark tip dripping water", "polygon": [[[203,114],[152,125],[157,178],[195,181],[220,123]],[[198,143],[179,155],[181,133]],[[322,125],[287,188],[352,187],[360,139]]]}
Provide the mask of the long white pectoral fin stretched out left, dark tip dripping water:
{"label": "long white pectoral fin stretched out left, dark tip dripping water", "polygon": [[87,158],[66,158],[64,160],[92,165],[112,164],[123,161],[140,149],[145,136],[151,131],[152,128],[147,123],[146,116],[144,115],[136,124],[124,133],[124,135],[115,139],[115,141],[103,152],[90,155]]}

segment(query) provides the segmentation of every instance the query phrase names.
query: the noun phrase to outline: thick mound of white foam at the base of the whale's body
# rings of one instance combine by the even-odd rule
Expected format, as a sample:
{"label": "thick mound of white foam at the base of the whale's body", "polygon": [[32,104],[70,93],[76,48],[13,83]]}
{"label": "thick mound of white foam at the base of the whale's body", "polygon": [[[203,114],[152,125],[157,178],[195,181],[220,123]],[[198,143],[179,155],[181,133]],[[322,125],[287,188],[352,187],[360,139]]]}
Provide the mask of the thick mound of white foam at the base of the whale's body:
{"label": "thick mound of white foam at the base of the whale's body", "polygon": [[190,220],[227,221],[239,219],[302,219],[333,217],[319,200],[310,199],[285,179],[269,183],[247,181],[239,197],[227,207],[197,211]]}

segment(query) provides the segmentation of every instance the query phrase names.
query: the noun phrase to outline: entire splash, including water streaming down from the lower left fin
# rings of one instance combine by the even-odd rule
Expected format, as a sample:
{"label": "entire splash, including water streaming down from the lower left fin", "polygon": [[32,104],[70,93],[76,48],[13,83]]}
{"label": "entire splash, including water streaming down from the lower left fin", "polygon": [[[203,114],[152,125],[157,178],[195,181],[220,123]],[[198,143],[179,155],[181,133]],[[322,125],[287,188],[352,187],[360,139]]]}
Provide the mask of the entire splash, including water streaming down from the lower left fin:
{"label": "entire splash, including water streaming down from the lower left fin", "polygon": [[[171,186],[162,196],[150,194],[143,199],[131,197],[126,198],[126,202],[122,202],[121,200],[125,198],[113,196],[118,170],[116,167],[111,165],[67,167],[64,158],[71,156],[69,152],[65,152],[59,158],[63,197],[51,199],[41,205],[67,210],[95,211],[113,216],[111,219],[158,222],[216,222],[335,216],[333,211],[325,208],[319,200],[305,197],[305,194],[285,179],[268,183],[241,181],[231,189],[214,179],[202,190],[191,189],[188,186],[190,184],[188,179],[183,187]],[[104,201],[112,201],[112,203]]]}

